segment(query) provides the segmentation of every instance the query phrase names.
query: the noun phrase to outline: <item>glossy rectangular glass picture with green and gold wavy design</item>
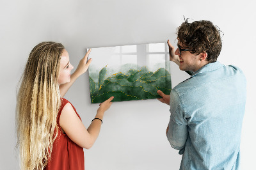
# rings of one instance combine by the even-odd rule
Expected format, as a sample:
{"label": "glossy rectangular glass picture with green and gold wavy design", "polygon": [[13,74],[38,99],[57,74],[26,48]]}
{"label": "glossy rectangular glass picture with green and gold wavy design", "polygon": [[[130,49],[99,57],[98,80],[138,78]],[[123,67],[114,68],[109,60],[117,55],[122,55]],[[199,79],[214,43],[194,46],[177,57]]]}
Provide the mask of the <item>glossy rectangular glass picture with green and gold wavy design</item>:
{"label": "glossy rectangular glass picture with green and gold wavy design", "polygon": [[125,50],[126,46],[92,49],[91,102],[102,103],[112,96],[112,102],[161,98],[157,90],[169,95],[172,82],[168,72],[168,48],[166,43],[156,45],[161,45],[162,50],[152,52],[153,46],[149,44],[132,45],[136,47],[134,50],[130,46],[129,50]]}

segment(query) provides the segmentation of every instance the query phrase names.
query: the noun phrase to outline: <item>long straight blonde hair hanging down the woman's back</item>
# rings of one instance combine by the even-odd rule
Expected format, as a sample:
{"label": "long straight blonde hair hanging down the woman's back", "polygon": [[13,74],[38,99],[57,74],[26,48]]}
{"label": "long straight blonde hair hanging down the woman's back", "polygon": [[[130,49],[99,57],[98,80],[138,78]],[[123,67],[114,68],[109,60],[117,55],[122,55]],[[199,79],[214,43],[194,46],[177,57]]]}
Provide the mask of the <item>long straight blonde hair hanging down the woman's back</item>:
{"label": "long straight blonde hair hanging down the woman's back", "polygon": [[44,169],[56,139],[63,45],[42,42],[29,54],[17,94],[16,132],[21,169]]}

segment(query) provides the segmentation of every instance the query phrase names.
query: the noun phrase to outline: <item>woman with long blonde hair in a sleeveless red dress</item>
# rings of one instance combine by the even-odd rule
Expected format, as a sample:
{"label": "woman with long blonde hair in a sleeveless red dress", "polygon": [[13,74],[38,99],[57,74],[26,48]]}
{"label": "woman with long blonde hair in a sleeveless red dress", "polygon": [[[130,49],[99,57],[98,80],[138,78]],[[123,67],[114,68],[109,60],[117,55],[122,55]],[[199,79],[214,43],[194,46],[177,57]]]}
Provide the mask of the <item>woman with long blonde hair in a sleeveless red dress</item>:
{"label": "woman with long blonde hair in a sleeveless red dress", "polygon": [[77,69],[61,43],[42,42],[29,54],[17,95],[17,147],[21,169],[84,169],[83,148],[97,139],[104,112],[113,97],[102,104],[86,129],[76,109],[64,97],[88,69],[90,50]]}

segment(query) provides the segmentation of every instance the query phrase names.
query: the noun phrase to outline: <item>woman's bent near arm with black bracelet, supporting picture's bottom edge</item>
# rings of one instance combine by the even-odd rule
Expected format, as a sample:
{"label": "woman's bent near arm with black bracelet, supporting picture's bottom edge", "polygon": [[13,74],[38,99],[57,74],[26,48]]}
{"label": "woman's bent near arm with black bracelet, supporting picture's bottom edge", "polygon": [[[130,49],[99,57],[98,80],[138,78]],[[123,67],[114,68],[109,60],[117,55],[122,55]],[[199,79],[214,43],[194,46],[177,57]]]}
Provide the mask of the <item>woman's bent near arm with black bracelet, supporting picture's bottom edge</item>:
{"label": "woman's bent near arm with black bracelet, supporting picture's bottom edge", "polygon": [[[113,100],[113,98],[114,97],[111,97],[100,104],[95,118],[99,118],[100,120],[103,119],[104,112],[111,106],[111,100]],[[74,143],[82,148],[89,149],[93,146],[99,135],[102,124],[100,120],[93,120],[88,129],[86,129],[82,121],[78,118],[72,105],[68,103],[63,107],[60,115],[60,127]]]}

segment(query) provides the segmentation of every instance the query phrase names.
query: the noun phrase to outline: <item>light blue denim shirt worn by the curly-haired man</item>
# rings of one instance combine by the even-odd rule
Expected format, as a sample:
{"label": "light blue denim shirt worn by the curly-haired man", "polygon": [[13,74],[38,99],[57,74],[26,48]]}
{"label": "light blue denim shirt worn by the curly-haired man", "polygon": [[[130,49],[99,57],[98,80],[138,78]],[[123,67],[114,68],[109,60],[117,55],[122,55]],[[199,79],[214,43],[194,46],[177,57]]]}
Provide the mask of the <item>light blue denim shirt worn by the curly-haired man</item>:
{"label": "light blue denim shirt worn by the curly-haired man", "polygon": [[245,100],[243,72],[218,61],[172,89],[167,137],[180,169],[239,169]]}

